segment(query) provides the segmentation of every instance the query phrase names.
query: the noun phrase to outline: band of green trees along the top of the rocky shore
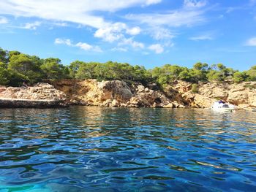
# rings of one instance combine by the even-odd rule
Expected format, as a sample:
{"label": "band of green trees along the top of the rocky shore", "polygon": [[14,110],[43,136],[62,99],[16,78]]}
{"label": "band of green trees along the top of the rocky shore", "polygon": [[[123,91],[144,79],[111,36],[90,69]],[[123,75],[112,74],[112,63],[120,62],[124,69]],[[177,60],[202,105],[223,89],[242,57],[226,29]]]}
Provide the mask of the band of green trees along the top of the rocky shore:
{"label": "band of green trees along the top of the rocky shore", "polygon": [[197,82],[225,81],[236,83],[256,81],[256,66],[245,72],[227,68],[223,64],[196,63],[192,69],[184,66],[166,64],[147,70],[143,66],[131,66],[108,61],[106,63],[74,61],[69,65],[61,64],[59,58],[42,59],[18,51],[7,51],[0,48],[0,85],[18,86],[23,82],[35,83],[43,79],[97,79],[124,80],[126,82],[157,82],[162,87],[173,80],[184,80],[194,83],[192,90],[197,93]]}

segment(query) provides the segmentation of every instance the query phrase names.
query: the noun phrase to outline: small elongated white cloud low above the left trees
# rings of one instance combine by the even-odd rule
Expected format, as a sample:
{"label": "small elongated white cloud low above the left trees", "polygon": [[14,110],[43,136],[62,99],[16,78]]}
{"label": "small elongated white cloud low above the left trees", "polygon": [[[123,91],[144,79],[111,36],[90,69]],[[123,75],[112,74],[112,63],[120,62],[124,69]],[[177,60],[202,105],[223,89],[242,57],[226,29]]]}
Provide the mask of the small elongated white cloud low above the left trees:
{"label": "small elongated white cloud low above the left trees", "polygon": [[57,38],[54,41],[55,44],[63,44],[63,45],[67,45],[70,47],[79,47],[82,50],[91,50],[91,51],[95,51],[95,52],[102,52],[101,48],[99,46],[94,46],[94,45],[89,45],[86,42],[78,42],[76,44],[73,44],[72,41],[70,39],[61,39],[61,38]]}

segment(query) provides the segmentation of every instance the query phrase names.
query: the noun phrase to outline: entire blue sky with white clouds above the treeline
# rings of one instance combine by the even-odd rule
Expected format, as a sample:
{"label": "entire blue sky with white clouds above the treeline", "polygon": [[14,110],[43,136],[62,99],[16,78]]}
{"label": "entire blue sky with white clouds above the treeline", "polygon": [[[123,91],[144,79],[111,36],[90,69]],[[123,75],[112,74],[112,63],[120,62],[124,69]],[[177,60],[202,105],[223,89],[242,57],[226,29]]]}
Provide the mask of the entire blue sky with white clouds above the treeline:
{"label": "entire blue sky with white clouds above the treeline", "polygon": [[1,0],[0,47],[152,69],[256,65],[256,0]]}

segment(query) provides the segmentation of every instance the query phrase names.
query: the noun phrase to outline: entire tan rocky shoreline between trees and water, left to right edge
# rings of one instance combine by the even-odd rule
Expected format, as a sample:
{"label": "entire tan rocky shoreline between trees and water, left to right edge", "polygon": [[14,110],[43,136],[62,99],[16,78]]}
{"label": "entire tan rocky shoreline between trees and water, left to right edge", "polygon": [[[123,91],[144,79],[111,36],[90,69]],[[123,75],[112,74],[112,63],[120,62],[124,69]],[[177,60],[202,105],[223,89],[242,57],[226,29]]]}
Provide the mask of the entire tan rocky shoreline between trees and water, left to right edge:
{"label": "entire tan rocky shoreline between trees and water, left to right edge", "polygon": [[157,85],[128,85],[120,80],[59,80],[37,83],[33,87],[1,87],[0,107],[67,107],[88,105],[101,107],[208,108],[222,99],[238,108],[256,107],[256,82],[174,81],[164,90]]}

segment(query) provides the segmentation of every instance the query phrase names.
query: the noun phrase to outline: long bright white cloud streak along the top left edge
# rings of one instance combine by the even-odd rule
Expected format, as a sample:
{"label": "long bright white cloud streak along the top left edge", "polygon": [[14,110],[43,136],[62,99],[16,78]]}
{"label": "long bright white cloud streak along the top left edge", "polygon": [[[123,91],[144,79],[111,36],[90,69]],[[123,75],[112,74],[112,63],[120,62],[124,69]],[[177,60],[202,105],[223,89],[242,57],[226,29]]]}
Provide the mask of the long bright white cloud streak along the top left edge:
{"label": "long bright white cloud streak along the top left edge", "polygon": [[79,23],[94,28],[102,28],[110,23],[102,17],[92,15],[94,11],[114,12],[135,6],[157,4],[161,0],[1,0],[1,14],[15,17],[37,17]]}

